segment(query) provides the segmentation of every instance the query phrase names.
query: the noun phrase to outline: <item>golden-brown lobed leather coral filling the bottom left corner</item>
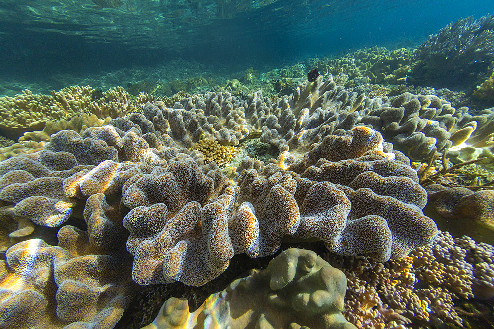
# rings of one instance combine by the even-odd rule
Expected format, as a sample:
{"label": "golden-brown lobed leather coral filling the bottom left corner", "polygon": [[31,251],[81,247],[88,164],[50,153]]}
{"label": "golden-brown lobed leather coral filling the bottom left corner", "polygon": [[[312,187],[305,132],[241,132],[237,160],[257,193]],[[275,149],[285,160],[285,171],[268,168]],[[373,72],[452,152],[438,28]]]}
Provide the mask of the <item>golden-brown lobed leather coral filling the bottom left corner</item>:
{"label": "golden-brown lobed leather coral filling the bottom left corner", "polygon": [[111,328],[130,303],[131,257],[118,244],[126,232],[118,203],[91,196],[88,230],[64,226],[58,246],[32,239],[9,248],[1,261],[1,325],[8,328]]}

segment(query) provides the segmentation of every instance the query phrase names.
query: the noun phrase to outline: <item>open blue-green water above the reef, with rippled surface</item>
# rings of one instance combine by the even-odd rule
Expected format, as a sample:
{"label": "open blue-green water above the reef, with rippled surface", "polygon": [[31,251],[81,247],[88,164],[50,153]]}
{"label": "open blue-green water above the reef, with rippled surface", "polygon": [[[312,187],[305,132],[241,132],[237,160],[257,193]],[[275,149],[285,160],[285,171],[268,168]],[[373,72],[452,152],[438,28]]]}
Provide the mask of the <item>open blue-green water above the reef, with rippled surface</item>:
{"label": "open blue-green water above the reef, with rippled surface", "polygon": [[492,0],[0,1],[0,76],[110,70],[170,58],[280,65],[374,45],[418,45]]}

